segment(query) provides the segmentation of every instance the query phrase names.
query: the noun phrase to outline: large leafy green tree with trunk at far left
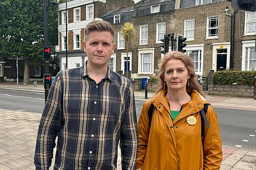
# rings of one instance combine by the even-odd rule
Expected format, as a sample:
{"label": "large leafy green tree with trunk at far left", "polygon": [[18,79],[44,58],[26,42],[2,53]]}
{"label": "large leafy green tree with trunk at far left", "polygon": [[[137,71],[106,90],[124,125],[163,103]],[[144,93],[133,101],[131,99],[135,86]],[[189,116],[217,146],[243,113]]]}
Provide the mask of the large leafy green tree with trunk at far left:
{"label": "large leafy green tree with trunk at far left", "polygon": [[[50,7],[50,6],[49,6]],[[24,84],[29,83],[29,65],[42,65],[44,44],[43,1],[3,0],[0,2],[0,55],[9,59],[22,59]],[[50,9],[50,8],[49,8]],[[55,14],[56,13],[56,14]],[[57,44],[57,10],[49,11],[49,45]],[[54,26],[55,25],[55,26]],[[52,34],[55,30],[55,34]]]}

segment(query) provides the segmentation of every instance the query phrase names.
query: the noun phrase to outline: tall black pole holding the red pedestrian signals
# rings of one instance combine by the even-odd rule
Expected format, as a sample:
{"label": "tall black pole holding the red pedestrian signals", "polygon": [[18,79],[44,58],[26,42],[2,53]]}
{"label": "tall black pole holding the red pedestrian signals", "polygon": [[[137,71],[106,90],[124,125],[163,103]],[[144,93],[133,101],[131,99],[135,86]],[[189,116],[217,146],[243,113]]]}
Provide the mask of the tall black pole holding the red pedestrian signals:
{"label": "tall black pole holding the red pedestrian signals", "polygon": [[[48,1],[44,0],[44,46],[48,46]],[[49,61],[45,61],[45,74],[49,74]],[[49,89],[45,89],[45,103]]]}

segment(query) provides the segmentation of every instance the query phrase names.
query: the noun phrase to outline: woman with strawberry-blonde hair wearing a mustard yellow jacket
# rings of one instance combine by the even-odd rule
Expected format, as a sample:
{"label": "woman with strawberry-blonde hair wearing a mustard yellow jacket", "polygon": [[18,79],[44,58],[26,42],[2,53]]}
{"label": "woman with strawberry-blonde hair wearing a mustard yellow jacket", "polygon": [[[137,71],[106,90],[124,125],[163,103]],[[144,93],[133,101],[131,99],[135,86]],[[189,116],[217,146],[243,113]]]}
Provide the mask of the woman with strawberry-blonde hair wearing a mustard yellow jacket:
{"label": "woman with strawberry-blonde hair wearing a mustard yellow jacket", "polygon": [[[138,122],[137,169],[220,169],[217,114],[204,99],[193,60],[184,53],[169,52],[158,64],[158,76],[156,95],[144,103]],[[152,118],[148,115],[151,104]],[[209,127],[200,114],[205,105]]]}

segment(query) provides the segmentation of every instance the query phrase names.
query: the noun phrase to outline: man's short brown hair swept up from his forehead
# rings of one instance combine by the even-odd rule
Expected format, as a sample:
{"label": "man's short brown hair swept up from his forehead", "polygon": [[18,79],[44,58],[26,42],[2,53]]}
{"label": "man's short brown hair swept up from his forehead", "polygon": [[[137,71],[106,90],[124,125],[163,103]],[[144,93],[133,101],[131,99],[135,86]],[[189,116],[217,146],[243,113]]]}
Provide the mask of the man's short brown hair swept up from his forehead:
{"label": "man's short brown hair swept up from his forehead", "polygon": [[89,22],[86,28],[84,28],[84,41],[87,41],[87,37],[92,31],[109,31],[113,37],[113,42],[115,42],[115,32],[110,22],[104,20]]}

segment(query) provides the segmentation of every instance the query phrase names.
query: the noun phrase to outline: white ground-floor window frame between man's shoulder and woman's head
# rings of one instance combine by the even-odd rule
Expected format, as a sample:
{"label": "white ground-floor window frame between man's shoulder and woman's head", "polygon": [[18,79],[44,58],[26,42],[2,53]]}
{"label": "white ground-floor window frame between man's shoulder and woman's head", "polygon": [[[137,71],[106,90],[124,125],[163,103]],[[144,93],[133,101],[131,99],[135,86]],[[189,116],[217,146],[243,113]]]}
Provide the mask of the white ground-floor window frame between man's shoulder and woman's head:
{"label": "white ground-floor window frame between man's shoulder and woman's head", "polygon": [[[154,75],[154,54],[155,52],[155,48],[140,48],[138,49],[138,74],[139,75]],[[141,55],[142,54],[147,54],[147,53],[151,53],[151,70],[150,72],[142,72],[141,71]]]}

